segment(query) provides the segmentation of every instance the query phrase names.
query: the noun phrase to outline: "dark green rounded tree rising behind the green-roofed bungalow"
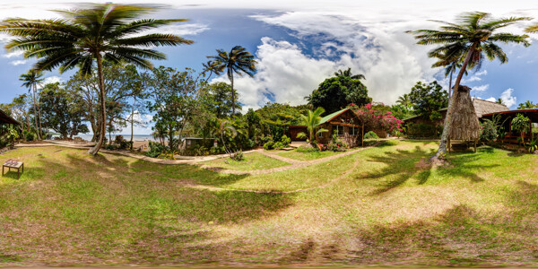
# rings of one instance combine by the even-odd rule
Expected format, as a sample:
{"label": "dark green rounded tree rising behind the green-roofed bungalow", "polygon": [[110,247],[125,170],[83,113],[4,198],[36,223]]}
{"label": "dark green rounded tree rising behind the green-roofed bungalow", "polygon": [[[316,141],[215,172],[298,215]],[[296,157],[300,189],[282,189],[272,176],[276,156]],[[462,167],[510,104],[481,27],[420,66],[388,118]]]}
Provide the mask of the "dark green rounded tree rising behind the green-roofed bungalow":
{"label": "dark green rounded tree rising behind the green-roofed bungalow", "polygon": [[307,100],[314,108],[325,108],[327,114],[331,114],[351,103],[361,107],[372,99],[368,96],[368,89],[359,79],[338,75],[321,82]]}

